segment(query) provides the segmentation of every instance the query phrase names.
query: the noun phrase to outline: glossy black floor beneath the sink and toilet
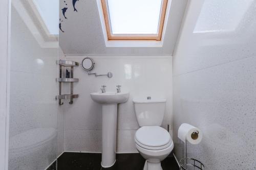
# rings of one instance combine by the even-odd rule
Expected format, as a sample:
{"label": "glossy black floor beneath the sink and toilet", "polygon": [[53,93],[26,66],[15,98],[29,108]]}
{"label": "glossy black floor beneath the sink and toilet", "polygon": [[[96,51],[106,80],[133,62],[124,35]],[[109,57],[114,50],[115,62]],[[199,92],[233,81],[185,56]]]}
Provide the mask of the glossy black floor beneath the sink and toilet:
{"label": "glossy black floor beneath the sink and toilet", "polygon": [[[57,170],[142,170],[145,160],[140,154],[117,154],[116,163],[110,168],[101,167],[101,154],[63,153],[57,160]],[[175,158],[170,154],[161,162],[163,170],[179,170]]]}

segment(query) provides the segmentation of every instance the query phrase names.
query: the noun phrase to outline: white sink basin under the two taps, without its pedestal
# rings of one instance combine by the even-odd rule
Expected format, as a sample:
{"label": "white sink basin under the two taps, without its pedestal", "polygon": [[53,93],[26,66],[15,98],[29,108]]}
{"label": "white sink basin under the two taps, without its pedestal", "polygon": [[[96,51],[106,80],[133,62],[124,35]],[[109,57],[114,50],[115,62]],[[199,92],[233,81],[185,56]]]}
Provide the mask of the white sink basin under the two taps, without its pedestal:
{"label": "white sink basin under the two taps, without its pedestal", "polygon": [[118,103],[124,103],[128,100],[129,93],[128,92],[94,92],[91,93],[91,98],[94,102],[103,105],[114,105]]}

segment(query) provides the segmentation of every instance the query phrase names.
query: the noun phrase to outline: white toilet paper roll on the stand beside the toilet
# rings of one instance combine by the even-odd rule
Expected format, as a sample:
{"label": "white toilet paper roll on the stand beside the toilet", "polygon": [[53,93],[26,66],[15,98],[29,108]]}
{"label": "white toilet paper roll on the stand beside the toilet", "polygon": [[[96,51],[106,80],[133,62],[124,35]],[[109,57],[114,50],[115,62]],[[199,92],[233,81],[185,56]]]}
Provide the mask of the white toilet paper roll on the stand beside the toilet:
{"label": "white toilet paper roll on the stand beside the toilet", "polygon": [[178,130],[178,138],[183,142],[188,141],[191,144],[198,144],[203,138],[202,131],[189,124],[181,124]]}

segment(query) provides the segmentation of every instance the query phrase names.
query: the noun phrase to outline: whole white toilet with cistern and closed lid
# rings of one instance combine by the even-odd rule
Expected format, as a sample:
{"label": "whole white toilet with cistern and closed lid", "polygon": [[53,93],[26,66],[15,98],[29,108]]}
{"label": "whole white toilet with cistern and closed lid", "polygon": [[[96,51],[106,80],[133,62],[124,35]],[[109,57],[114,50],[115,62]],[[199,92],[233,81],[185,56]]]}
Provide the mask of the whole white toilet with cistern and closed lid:
{"label": "whole white toilet with cistern and closed lid", "polygon": [[160,127],[165,112],[165,99],[134,99],[134,109],[140,128],[135,133],[135,145],[146,159],[143,170],[161,170],[161,161],[174,148],[168,131]]}

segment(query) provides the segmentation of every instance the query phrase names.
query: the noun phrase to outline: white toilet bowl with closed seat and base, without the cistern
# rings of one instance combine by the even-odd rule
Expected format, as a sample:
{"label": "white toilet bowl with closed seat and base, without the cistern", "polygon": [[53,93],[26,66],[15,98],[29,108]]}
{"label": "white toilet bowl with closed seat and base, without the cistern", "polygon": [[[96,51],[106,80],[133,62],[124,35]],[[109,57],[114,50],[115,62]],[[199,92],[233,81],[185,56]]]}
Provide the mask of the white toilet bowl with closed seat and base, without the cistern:
{"label": "white toilet bowl with closed seat and base, without the cistern", "polygon": [[174,148],[169,133],[159,126],[144,126],[135,134],[136,148],[146,159],[144,170],[161,170],[161,161]]}

